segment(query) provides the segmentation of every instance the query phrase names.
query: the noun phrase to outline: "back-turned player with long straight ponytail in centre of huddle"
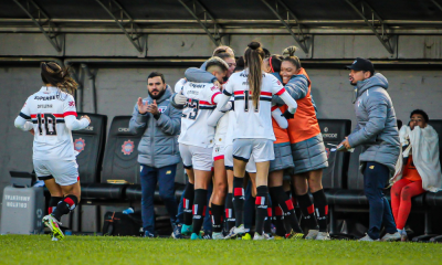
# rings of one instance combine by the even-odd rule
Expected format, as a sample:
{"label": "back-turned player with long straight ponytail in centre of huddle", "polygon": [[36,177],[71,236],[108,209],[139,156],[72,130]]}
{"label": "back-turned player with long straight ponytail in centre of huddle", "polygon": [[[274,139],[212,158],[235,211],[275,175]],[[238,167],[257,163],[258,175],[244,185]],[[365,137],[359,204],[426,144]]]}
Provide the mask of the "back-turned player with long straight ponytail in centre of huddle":
{"label": "back-turned player with long straight ponytail in centre of huddle", "polygon": [[[244,53],[246,70],[233,74],[225,84],[223,96],[217,109],[222,110],[224,105],[234,95],[234,114],[236,123],[233,135],[233,206],[243,209],[243,178],[245,166],[251,157],[256,163],[256,233],[254,240],[264,240],[264,220],[267,215],[269,190],[267,174],[270,161],[274,159],[273,141],[275,136],[272,128],[271,100],[278,95],[288,110],[284,117],[291,118],[296,112],[296,102],[285,92],[281,82],[273,75],[263,72],[264,51],[261,43],[251,42]],[[236,189],[239,189],[236,192]],[[244,225],[234,230],[235,234],[244,233]]]}

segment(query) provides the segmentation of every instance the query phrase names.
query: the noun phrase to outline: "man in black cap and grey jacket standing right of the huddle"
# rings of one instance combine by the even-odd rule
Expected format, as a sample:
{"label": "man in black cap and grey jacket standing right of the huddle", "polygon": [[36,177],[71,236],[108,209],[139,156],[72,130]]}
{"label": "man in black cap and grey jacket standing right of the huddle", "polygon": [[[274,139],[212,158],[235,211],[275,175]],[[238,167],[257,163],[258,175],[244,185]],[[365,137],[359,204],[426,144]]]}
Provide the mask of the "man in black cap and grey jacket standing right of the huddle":
{"label": "man in black cap and grey jacket standing right of the huddle", "polygon": [[347,149],[362,146],[359,161],[370,214],[367,235],[359,241],[379,241],[382,223],[387,231],[382,241],[400,240],[390,204],[382,193],[394,173],[400,148],[396,113],[387,93],[388,81],[382,74],[375,74],[373,65],[366,59],[358,57],[347,67],[351,71],[350,84],[356,86],[357,125],[343,145]]}

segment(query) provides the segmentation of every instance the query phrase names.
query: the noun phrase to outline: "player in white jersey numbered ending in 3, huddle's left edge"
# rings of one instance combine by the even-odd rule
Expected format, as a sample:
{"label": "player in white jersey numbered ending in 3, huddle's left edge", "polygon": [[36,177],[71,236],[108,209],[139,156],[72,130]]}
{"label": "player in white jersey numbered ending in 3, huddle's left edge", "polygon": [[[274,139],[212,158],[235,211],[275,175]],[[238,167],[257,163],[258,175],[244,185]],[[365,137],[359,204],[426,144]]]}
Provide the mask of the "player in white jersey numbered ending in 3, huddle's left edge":
{"label": "player in white jersey numbered ending in 3, huddle's left edge", "polygon": [[[228,64],[217,56],[210,59],[207,63],[207,71],[215,75],[220,82],[225,76],[228,68]],[[189,178],[192,174],[194,176],[191,240],[198,240],[201,239],[199,233],[206,213],[208,186],[212,177],[213,166],[214,128],[208,126],[207,121],[215,108],[214,104],[219,102],[218,98],[221,98],[222,95],[219,87],[212,83],[187,82],[182,86],[176,86],[175,92],[188,98],[182,112],[181,134],[178,142],[186,171]],[[185,208],[188,208],[188,205]],[[190,224],[187,215],[185,215],[185,222],[187,225]]]}

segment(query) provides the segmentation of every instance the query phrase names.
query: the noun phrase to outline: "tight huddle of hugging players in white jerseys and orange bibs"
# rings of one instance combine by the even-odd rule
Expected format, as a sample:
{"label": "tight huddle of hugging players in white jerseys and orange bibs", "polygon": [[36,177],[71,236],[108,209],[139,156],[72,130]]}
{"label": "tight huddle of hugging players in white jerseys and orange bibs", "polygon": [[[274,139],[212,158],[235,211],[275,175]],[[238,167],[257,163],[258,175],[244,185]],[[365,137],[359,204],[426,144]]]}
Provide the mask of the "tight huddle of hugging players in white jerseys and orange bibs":
{"label": "tight huddle of hugging players in white jerseys and orange bibs", "polygon": [[[266,56],[261,43],[251,42],[235,63],[233,51],[220,46],[201,68],[189,68],[176,84],[172,102],[183,108],[178,141],[189,177],[181,233],[191,240],[202,239],[212,176],[210,239],[251,240],[250,227],[244,227],[246,172],[255,197],[253,240],[274,239],[272,219],[276,234],[285,239],[330,239],[322,188],[327,156],[311,82],[295,51],[291,46],[283,52],[286,56]],[[291,199],[291,183],[297,200]],[[308,225],[306,236],[294,201]]]}

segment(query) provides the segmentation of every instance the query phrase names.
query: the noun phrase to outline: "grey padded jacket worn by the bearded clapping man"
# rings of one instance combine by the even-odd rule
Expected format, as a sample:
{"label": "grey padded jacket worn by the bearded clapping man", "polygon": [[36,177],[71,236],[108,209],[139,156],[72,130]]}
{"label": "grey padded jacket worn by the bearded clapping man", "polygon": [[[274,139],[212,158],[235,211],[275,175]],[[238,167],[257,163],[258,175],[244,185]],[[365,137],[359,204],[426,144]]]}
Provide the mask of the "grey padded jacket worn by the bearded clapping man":
{"label": "grey padded jacket worn by the bearded clapping man", "polygon": [[[138,105],[135,104],[129,129],[133,134],[145,131],[138,145],[138,162],[141,165],[162,168],[180,161],[178,135],[181,128],[181,110],[171,105],[171,94],[167,85],[165,94],[157,99],[161,113],[158,119],[150,113],[139,114]],[[148,96],[143,102],[151,104],[154,99]]]}

